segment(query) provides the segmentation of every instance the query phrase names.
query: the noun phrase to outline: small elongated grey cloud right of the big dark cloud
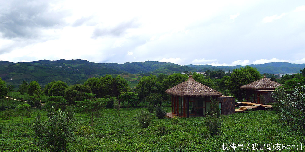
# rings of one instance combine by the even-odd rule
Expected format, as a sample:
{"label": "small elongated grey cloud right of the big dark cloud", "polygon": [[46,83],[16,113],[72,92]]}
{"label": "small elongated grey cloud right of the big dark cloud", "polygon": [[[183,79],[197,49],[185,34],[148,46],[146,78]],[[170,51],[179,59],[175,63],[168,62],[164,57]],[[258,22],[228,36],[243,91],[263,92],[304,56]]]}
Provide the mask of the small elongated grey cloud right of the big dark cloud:
{"label": "small elongated grey cloud right of the big dark cloud", "polygon": [[92,38],[103,37],[103,36],[121,36],[126,33],[127,29],[139,27],[135,19],[128,22],[122,22],[117,26],[111,28],[95,28]]}

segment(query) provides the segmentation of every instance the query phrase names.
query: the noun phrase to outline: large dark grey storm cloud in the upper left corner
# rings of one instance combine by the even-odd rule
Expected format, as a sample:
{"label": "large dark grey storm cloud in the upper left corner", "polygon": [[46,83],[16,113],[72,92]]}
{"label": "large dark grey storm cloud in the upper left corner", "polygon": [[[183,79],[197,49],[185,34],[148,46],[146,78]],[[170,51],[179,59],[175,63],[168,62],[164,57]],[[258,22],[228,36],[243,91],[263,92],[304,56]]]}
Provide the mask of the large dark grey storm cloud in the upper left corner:
{"label": "large dark grey storm cloud in the upper left corner", "polygon": [[1,3],[1,33],[4,38],[36,38],[41,28],[65,24],[63,11],[52,10],[48,1]]}

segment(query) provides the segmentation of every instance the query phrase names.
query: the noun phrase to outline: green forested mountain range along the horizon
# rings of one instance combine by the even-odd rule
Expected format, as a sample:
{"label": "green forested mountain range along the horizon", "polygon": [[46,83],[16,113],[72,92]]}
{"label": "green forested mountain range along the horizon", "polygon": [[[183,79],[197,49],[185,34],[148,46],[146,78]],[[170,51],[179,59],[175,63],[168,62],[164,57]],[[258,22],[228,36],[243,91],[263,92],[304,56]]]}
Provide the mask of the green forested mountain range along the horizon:
{"label": "green forested mountain range along the horizon", "polygon": [[[260,65],[249,65],[256,67],[263,73],[299,73],[305,64],[291,64],[287,62],[265,63]],[[183,71],[206,71],[206,70],[233,70],[244,66],[211,66],[211,65],[185,65],[174,63],[146,61],[132,63],[93,63],[86,60],[40,60],[33,62],[8,62],[0,61],[0,77],[7,84],[18,87],[23,80],[38,81],[44,86],[51,81],[62,80],[68,85],[84,83],[90,77],[101,77],[111,74],[113,77],[120,75],[125,78],[131,87],[138,84],[144,75],[173,74]]]}

